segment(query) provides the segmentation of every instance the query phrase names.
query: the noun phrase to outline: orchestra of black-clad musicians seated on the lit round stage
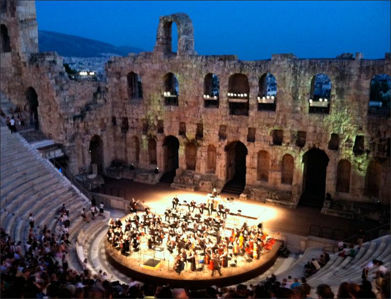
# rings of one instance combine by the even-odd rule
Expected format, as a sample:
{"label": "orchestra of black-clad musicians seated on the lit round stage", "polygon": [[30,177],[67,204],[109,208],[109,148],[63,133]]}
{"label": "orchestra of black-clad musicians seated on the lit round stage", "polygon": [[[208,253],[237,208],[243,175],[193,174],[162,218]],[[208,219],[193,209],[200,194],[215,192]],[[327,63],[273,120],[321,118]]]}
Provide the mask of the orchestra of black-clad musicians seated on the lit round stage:
{"label": "orchestra of black-clad musicians seated on the lit round stage", "polygon": [[167,250],[174,256],[173,269],[178,275],[187,263],[191,271],[201,264],[211,270],[212,276],[216,271],[222,276],[221,268],[228,267],[229,260],[236,266],[238,256],[259,259],[275,243],[272,236],[263,232],[262,223],[248,226],[244,222],[227,230],[229,209],[216,197],[206,204],[192,200],[179,207],[175,196],[172,206],[165,210],[164,220],[149,207],[145,207],[143,214],[137,214],[137,203],[131,200],[131,213],[125,223],[120,219],[109,220],[107,240],[123,255],[139,251],[140,244],[145,244],[148,250]]}

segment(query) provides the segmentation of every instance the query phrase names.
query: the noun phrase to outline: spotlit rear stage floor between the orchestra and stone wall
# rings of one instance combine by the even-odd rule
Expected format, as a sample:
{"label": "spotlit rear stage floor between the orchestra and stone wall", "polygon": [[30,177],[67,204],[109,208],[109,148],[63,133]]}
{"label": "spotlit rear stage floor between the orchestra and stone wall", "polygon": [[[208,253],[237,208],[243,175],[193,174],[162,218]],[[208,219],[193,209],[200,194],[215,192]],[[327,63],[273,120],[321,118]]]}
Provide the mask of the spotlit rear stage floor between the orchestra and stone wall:
{"label": "spotlit rear stage floor between the orchestra and stone wall", "polygon": [[[177,195],[179,202],[186,199],[188,202],[194,199],[197,203],[205,202],[208,192],[204,191],[185,191],[170,187],[168,183],[158,183],[148,185],[136,183],[129,179],[110,179],[106,186],[126,189],[126,199],[132,197],[145,200],[145,204],[151,207],[153,211],[162,214],[170,206],[174,195]],[[221,198],[234,197],[236,209],[241,209],[242,214],[251,213],[259,215],[255,222],[263,222],[265,228],[296,235],[308,235],[311,224],[321,227],[330,227],[332,229],[345,230],[346,237],[355,235],[360,226],[366,229],[378,226],[376,221],[357,221],[342,217],[329,216],[321,214],[320,209],[312,207],[298,206],[296,209],[289,209],[279,206],[266,205],[256,200],[238,201],[239,196],[229,193],[220,194]],[[240,207],[239,207],[240,206]],[[236,211],[237,212],[237,211]],[[248,219],[248,223],[251,219]],[[249,223],[250,224],[250,223]]]}

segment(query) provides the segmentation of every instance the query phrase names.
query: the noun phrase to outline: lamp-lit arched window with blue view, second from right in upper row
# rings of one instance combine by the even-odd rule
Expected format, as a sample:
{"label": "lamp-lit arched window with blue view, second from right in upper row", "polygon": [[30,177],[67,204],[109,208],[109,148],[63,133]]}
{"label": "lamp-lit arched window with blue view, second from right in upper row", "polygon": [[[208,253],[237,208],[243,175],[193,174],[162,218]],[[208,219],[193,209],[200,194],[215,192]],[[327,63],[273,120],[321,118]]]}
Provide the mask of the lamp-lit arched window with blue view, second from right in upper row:
{"label": "lamp-lit arched window with blue view, second from right in upper row", "polygon": [[316,74],[311,81],[309,113],[326,113],[330,108],[331,81],[325,74]]}

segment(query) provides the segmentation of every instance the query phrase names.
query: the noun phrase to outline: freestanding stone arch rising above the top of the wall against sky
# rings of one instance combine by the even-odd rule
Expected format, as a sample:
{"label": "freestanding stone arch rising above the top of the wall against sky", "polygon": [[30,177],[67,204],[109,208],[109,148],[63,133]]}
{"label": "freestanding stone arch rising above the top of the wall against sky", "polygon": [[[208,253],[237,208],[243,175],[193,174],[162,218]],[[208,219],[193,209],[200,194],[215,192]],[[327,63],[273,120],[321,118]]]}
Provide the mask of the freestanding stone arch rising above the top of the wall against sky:
{"label": "freestanding stone arch rising above the top of the wall against sky", "polygon": [[194,28],[193,22],[187,14],[175,13],[162,16],[157,26],[156,45],[154,51],[163,54],[173,53],[172,25],[176,23],[178,30],[177,55],[194,55]]}

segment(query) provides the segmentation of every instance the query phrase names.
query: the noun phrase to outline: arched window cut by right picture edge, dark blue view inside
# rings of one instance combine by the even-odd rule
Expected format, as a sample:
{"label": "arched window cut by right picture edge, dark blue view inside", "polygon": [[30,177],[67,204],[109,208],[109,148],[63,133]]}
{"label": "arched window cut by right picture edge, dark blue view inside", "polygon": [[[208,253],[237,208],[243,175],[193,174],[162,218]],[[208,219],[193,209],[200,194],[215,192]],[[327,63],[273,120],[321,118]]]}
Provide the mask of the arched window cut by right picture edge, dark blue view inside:
{"label": "arched window cut by right picture edge, dark blue view inside", "polygon": [[390,117],[391,78],[389,75],[376,75],[370,81],[368,114]]}

